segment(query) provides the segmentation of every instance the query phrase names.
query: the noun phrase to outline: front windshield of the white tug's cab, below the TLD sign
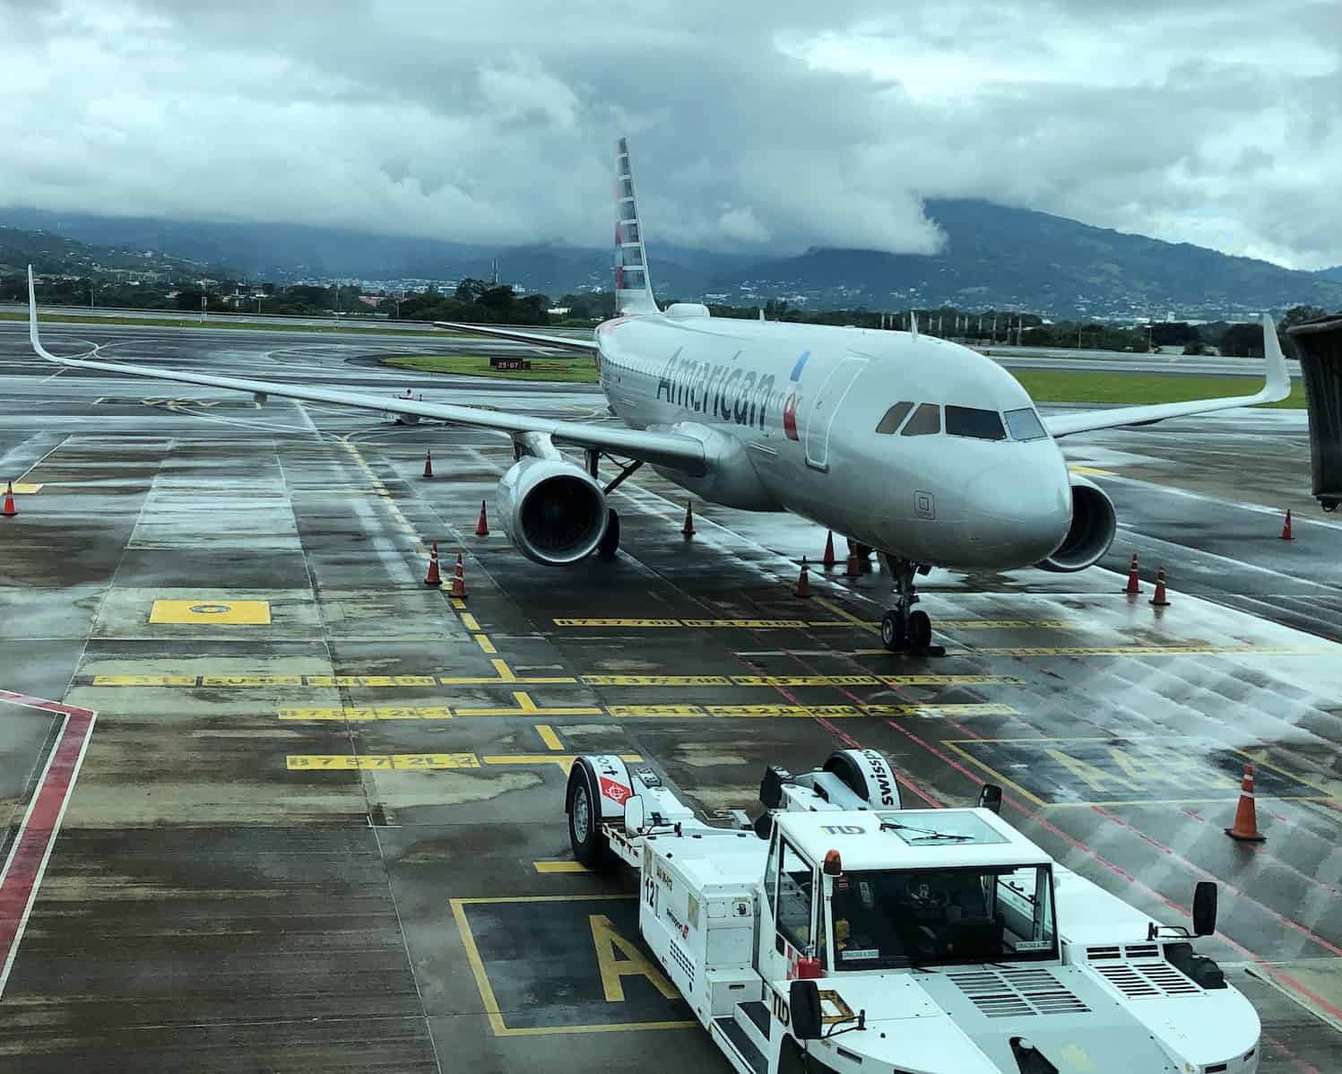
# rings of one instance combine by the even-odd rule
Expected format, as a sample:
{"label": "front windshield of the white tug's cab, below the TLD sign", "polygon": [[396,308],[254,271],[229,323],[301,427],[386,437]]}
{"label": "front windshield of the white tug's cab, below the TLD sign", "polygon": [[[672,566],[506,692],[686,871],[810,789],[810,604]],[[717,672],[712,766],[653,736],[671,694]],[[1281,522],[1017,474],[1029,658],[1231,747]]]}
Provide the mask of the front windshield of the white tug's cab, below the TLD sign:
{"label": "front windshield of the white tug's cab, below the TLD sign", "polygon": [[833,968],[892,969],[1057,957],[1043,865],[872,870],[833,881]]}

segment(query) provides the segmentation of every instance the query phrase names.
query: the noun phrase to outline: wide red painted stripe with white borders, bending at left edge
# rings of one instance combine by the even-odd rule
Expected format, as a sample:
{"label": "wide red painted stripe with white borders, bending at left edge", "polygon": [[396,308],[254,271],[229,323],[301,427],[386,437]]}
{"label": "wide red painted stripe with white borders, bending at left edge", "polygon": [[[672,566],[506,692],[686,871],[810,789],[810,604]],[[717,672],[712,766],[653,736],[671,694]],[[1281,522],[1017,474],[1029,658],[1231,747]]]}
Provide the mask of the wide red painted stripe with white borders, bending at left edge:
{"label": "wide red painted stripe with white borders, bending at left edge", "polygon": [[9,971],[19,955],[19,942],[28,924],[28,914],[42,886],[42,877],[47,871],[51,850],[60,832],[70,792],[89,749],[97,716],[89,709],[76,709],[9,690],[0,690],[0,701],[64,716],[60,737],[47,757],[46,769],[32,792],[32,800],[28,803],[13,846],[9,847],[4,870],[0,871],[0,995],[3,995]]}

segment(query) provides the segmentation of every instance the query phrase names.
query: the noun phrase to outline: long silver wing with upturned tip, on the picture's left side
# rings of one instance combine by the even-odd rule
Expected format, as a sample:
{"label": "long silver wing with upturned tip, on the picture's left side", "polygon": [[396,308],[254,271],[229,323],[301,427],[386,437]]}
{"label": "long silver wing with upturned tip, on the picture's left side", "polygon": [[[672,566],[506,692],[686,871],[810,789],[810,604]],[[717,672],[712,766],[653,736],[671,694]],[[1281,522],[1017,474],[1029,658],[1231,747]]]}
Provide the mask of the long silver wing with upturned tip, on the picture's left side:
{"label": "long silver wing with upturned tip, on the picture's left side", "polygon": [[381,396],[370,392],[344,392],[330,388],[279,384],[268,380],[247,380],[209,373],[189,373],[180,369],[158,369],[149,365],[126,365],[114,361],[60,358],[42,345],[42,338],[38,334],[38,299],[32,286],[32,266],[28,266],[28,338],[39,357],[56,365],[98,369],[105,373],[127,373],[154,380],[173,380],[181,384],[200,384],[209,388],[229,388],[239,392],[250,392],[258,400],[263,400],[267,396],[301,399],[310,403],[334,403],[341,407],[357,407],[380,413],[400,413],[413,419],[432,418],[456,426],[472,426],[497,432],[539,432],[561,443],[595,447],[627,458],[668,466],[675,470],[687,470],[691,474],[702,474],[707,469],[703,444],[692,436],[682,436],[676,432],[597,426],[586,422],[553,422],[521,413],[499,413],[479,407],[458,407],[451,403],[419,403],[411,399],[397,399],[396,396]]}

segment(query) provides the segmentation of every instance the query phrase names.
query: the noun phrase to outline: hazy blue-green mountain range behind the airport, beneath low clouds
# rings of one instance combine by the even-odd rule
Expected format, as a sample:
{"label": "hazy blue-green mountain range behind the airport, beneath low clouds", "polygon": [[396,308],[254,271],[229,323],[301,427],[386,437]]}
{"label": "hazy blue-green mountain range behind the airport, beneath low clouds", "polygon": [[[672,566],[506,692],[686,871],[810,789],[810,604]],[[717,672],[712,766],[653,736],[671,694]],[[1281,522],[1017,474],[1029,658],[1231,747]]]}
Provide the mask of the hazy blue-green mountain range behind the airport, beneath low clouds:
{"label": "hazy blue-green mountain range behind the airport, beneath low clouds", "polygon": [[[1243,318],[1294,305],[1342,309],[1342,266],[1303,273],[1188,243],[1009,208],[981,200],[930,200],[946,235],[934,255],[812,248],[752,256],[648,243],[659,297],[752,305],[786,298],[813,309],[1023,309],[1055,317]],[[103,247],[166,251],[227,266],[247,278],[452,281],[501,277],[554,298],[611,286],[611,252],[539,243],[494,248],[429,238],[295,224],[174,222],[0,209],[0,224]],[[650,231],[655,228],[650,227]],[[3,232],[0,232],[3,234]]]}

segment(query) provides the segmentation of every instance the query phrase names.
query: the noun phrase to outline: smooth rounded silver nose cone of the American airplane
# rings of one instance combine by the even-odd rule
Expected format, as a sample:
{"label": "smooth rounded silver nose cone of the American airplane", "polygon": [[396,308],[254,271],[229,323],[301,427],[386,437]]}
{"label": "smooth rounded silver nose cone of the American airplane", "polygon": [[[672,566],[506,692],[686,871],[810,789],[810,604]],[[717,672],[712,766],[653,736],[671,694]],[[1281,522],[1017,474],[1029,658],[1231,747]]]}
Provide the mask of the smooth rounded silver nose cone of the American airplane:
{"label": "smooth rounded silver nose cone of the American airplane", "polygon": [[985,565],[1025,567],[1051,556],[1072,521],[1066,466],[994,466],[965,490],[965,537]]}

